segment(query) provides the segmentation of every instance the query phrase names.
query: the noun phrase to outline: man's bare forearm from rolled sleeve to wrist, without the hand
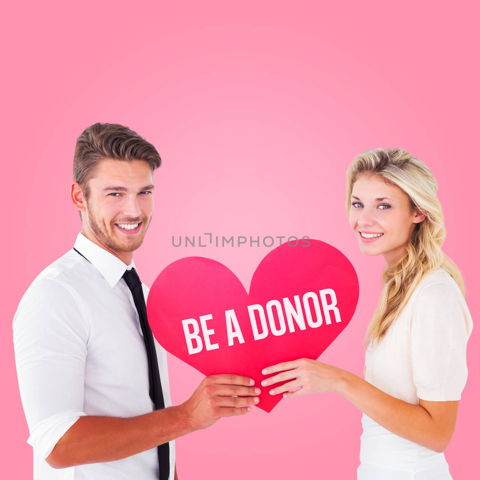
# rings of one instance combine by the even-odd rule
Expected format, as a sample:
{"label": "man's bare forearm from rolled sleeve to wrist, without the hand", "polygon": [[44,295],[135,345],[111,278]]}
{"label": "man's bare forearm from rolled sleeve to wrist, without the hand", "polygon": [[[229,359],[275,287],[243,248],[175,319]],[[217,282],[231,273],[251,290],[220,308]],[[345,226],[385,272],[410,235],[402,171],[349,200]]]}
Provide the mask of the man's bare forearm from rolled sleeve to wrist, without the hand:
{"label": "man's bare forearm from rolled sleeve to wrist, without the hand", "polygon": [[87,415],[60,438],[46,461],[53,468],[111,462],[190,432],[192,428],[181,406],[128,418]]}

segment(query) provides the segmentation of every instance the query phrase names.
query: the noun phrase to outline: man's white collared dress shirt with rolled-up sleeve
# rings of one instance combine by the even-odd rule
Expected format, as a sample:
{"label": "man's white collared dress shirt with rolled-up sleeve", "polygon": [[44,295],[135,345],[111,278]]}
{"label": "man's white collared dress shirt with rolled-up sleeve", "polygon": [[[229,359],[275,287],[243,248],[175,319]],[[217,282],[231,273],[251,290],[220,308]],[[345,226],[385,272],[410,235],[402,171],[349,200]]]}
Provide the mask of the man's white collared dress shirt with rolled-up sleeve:
{"label": "man's white collared dress shirt with rolled-up sleeve", "polygon": [[[20,396],[33,447],[34,480],[158,480],[157,448],[120,460],[51,468],[45,458],[84,415],[134,417],[155,406],[148,360],[127,267],[79,233],[73,249],[43,270],[13,318]],[[135,267],[136,269],[136,267]],[[142,284],[145,302],[149,288]],[[165,407],[167,356],[155,339]],[[169,443],[170,479],[175,442]]]}

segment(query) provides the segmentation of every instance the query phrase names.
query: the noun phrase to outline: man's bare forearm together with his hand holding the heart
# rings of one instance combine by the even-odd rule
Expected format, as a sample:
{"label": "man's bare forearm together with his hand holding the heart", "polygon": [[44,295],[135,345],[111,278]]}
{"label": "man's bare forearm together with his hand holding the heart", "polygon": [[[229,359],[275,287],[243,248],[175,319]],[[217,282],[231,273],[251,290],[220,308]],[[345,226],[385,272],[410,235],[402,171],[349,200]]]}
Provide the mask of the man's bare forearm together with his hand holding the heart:
{"label": "man's bare forearm together with his hand holding the heart", "polygon": [[[80,417],[45,459],[52,468],[112,462],[150,450],[194,430],[213,425],[221,417],[242,415],[258,403],[260,388],[239,375],[204,378],[193,395],[179,406],[137,417]],[[245,395],[245,398],[234,395]],[[250,410],[249,410],[250,408]]]}

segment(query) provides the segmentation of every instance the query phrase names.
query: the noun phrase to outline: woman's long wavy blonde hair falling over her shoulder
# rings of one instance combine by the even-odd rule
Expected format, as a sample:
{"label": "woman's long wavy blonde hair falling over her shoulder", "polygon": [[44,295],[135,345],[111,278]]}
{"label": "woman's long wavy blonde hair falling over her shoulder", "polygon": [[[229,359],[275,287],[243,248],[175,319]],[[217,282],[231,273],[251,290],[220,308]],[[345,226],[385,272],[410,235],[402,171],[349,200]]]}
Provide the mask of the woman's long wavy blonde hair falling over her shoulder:
{"label": "woman's long wavy blonde hair falling over her shoulder", "polygon": [[365,334],[366,346],[385,335],[428,272],[444,268],[464,297],[465,284],[456,264],[441,249],[445,239],[444,215],[437,198],[437,182],[430,169],[401,148],[375,148],[361,153],[347,171],[347,215],[353,184],[362,174],[380,176],[387,185],[400,188],[410,198],[411,210],[425,214],[425,219],[415,224],[406,252],[387,263],[382,271],[383,289]]}

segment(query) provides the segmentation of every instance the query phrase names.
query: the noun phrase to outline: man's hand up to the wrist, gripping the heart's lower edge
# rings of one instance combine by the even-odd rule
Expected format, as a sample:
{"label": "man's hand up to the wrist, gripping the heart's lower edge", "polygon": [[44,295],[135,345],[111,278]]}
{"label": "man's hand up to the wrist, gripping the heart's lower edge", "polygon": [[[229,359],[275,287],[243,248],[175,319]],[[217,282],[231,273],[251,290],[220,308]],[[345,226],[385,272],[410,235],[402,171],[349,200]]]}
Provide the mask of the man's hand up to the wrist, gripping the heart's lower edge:
{"label": "man's hand up to the wrist, gripping the heart's lower edge", "polygon": [[259,402],[256,395],[261,392],[254,384],[251,378],[227,373],[205,377],[193,395],[180,405],[192,431],[210,427],[222,417],[250,412],[249,405]]}

